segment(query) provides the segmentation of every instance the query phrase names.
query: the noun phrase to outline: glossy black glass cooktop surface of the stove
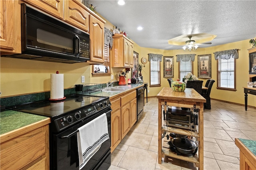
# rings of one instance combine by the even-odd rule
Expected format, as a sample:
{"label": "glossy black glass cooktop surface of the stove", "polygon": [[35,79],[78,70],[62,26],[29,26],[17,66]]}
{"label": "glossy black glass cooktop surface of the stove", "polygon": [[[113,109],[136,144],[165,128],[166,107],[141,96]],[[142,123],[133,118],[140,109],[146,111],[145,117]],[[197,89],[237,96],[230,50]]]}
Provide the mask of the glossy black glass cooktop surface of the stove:
{"label": "glossy black glass cooktop surface of the stove", "polygon": [[82,107],[89,107],[92,104],[96,104],[108,98],[81,94],[72,94],[65,97],[66,99],[60,101],[43,100],[29,104],[21,104],[19,106],[12,106],[10,109],[48,117],[55,117]]}

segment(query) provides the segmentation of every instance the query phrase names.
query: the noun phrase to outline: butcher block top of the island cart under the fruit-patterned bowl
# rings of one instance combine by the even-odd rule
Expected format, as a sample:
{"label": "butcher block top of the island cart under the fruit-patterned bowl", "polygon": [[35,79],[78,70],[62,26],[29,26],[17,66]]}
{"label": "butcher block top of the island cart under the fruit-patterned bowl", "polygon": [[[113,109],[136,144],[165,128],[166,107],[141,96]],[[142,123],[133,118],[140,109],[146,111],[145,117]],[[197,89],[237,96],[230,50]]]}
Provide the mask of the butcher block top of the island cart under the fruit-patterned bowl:
{"label": "butcher block top of the island cart under the fruit-patterned bowl", "polygon": [[206,99],[192,88],[186,88],[184,92],[174,92],[172,88],[164,87],[156,97],[164,100],[206,102]]}

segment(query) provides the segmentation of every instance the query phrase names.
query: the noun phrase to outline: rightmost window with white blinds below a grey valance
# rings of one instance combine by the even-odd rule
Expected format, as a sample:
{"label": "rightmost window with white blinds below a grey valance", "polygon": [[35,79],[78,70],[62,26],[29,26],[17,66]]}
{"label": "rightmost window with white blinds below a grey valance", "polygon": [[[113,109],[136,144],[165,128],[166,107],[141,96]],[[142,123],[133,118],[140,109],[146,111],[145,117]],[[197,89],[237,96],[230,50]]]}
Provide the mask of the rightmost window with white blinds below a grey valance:
{"label": "rightmost window with white blinds below a grey valance", "polygon": [[235,90],[236,89],[236,60],[233,57],[226,59],[228,55],[222,55],[218,58],[218,89]]}

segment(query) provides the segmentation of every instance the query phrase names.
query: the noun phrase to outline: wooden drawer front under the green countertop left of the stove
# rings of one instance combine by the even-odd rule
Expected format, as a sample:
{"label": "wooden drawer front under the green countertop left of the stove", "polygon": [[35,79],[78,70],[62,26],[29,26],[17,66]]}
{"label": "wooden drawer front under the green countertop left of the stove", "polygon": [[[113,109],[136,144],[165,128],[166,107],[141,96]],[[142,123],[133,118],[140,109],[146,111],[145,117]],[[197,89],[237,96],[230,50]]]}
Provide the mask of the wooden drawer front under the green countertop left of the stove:
{"label": "wooden drawer front under the green countertop left of the stove", "polygon": [[46,131],[36,135],[32,132],[30,138],[23,141],[20,140],[24,136],[26,138],[27,135],[13,139],[12,141],[17,141],[18,143],[1,150],[1,169],[20,169],[46,153]]}

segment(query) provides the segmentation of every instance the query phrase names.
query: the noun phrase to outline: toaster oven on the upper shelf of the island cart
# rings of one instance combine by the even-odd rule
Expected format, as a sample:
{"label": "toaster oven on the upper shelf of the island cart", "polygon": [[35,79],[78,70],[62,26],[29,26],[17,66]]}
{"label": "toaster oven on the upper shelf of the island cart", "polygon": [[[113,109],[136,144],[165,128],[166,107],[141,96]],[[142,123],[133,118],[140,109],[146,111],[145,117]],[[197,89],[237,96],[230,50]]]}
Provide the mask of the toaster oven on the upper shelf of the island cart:
{"label": "toaster oven on the upper shelf of the island cart", "polygon": [[168,115],[166,115],[166,124],[170,127],[194,131],[195,126],[193,124],[192,117],[192,111],[169,108]]}

